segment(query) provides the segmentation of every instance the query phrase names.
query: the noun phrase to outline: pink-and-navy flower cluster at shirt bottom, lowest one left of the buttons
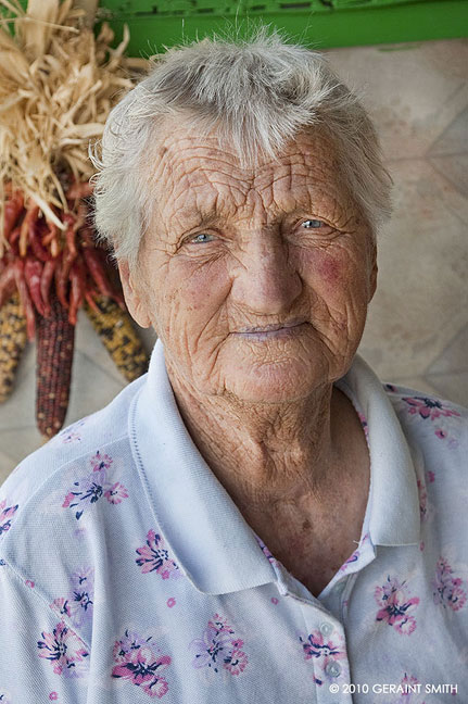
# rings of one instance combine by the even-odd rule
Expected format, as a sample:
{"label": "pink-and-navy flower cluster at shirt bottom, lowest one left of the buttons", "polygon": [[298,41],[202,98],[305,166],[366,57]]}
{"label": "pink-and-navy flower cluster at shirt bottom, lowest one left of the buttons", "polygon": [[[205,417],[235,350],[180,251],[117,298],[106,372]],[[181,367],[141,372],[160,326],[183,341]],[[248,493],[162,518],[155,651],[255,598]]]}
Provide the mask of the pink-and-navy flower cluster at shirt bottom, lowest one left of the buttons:
{"label": "pink-and-navy flower cluster at shirt bottom, lowest one left of the buttons", "polygon": [[143,638],[127,629],[124,638],[115,641],[113,657],[117,664],[112,669],[112,677],[128,680],[148,696],[161,699],[169,689],[162,674],[172,659],[156,643],[150,643],[151,639],[151,636]]}

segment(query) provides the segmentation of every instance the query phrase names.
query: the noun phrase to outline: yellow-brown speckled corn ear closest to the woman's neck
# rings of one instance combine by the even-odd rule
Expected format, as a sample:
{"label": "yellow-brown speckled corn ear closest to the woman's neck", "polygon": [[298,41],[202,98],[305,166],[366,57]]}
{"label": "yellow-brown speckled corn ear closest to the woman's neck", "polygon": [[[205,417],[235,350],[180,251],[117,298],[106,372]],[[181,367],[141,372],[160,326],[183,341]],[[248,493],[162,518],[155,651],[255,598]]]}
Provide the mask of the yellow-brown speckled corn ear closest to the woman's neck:
{"label": "yellow-brown speckled corn ear closest to the woman's neck", "polygon": [[86,312],[117,369],[127,381],[134,381],[147,372],[149,360],[130,316],[105,296],[94,301],[99,312],[88,303]]}

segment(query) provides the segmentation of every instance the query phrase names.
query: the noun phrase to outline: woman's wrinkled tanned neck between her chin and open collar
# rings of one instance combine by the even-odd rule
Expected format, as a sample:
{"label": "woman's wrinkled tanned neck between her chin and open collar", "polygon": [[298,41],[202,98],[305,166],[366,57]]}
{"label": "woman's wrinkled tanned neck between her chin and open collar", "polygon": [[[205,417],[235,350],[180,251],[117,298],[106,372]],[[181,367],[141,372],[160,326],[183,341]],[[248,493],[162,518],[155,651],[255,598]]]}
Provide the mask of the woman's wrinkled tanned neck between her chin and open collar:
{"label": "woman's wrinkled tanned neck between her chin and open collar", "polygon": [[244,516],[278,504],[324,504],[343,464],[351,406],[332,385],[291,403],[245,403],[200,394],[170,367],[168,374],[195,445]]}

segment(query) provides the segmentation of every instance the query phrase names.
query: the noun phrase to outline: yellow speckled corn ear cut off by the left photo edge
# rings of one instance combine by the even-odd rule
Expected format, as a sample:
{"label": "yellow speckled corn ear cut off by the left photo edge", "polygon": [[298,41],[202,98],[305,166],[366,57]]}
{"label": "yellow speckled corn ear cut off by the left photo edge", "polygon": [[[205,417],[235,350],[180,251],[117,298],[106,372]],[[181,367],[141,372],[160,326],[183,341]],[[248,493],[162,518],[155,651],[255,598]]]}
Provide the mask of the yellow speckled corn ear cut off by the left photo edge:
{"label": "yellow speckled corn ear cut off by the left photo edge", "polygon": [[14,293],[0,309],[0,403],[13,390],[16,367],[26,347],[26,318]]}

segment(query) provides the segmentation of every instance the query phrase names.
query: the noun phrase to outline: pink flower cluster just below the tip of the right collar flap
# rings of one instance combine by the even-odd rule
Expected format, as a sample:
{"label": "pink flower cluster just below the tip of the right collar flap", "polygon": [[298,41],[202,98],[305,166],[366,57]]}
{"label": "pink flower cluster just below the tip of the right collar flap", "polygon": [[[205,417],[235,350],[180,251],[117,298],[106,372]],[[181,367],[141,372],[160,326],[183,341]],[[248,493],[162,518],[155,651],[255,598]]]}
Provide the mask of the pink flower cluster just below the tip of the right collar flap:
{"label": "pink flower cluster just below the tip of the right collar flap", "polygon": [[409,611],[414,611],[419,604],[419,596],[408,599],[407,587],[396,577],[387,577],[387,583],[376,587],[374,592],[376,602],[381,607],[377,612],[376,620],[387,621],[389,626],[402,634],[409,636],[416,628],[416,618]]}

